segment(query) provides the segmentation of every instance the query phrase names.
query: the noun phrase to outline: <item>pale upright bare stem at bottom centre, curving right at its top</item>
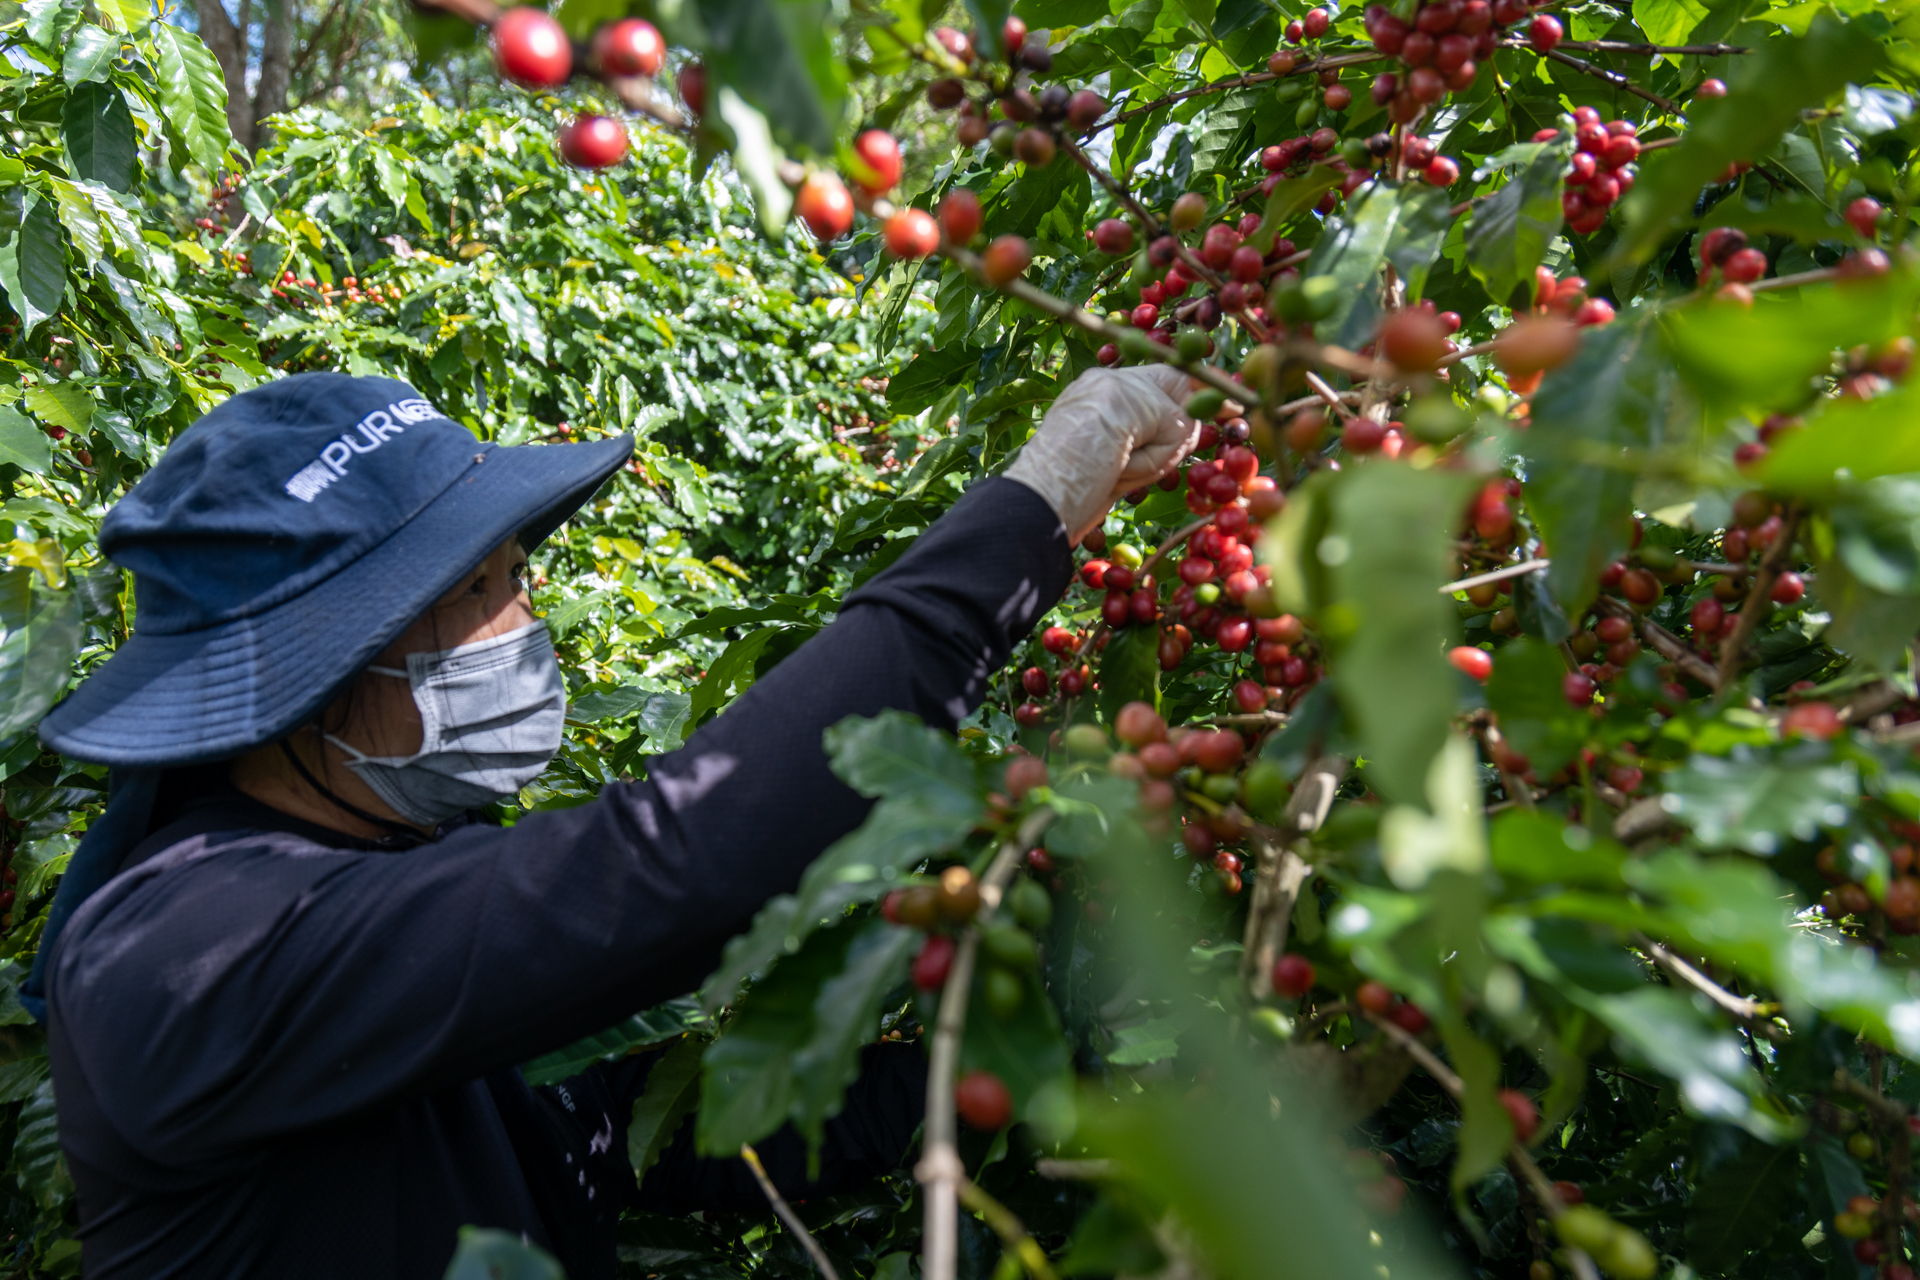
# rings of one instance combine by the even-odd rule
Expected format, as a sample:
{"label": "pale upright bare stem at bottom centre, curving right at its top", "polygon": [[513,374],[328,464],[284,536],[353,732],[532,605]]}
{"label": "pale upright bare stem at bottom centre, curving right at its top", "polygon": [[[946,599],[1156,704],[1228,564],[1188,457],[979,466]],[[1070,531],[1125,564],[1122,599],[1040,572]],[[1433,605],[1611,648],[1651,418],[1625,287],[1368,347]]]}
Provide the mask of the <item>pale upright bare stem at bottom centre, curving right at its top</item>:
{"label": "pale upright bare stem at bottom centre, curving right at its top", "polygon": [[[1020,856],[1033,846],[1052,818],[1050,810],[1033,814],[1020,825],[1012,841],[1000,844],[993,865],[981,877],[981,915],[998,910],[1000,892],[1014,877]],[[966,1182],[966,1165],[960,1163],[954,1126],[954,1071],[960,1061],[960,1034],[966,1031],[966,1004],[973,990],[973,956],[977,952],[979,917],[960,935],[952,967],[947,971],[947,984],[941,988],[941,1011],[933,1023],[933,1048],[927,1065],[925,1155],[914,1167],[914,1176],[927,1188],[925,1255],[920,1272],[925,1280],[954,1280],[960,1255],[958,1196],[960,1184]]]}

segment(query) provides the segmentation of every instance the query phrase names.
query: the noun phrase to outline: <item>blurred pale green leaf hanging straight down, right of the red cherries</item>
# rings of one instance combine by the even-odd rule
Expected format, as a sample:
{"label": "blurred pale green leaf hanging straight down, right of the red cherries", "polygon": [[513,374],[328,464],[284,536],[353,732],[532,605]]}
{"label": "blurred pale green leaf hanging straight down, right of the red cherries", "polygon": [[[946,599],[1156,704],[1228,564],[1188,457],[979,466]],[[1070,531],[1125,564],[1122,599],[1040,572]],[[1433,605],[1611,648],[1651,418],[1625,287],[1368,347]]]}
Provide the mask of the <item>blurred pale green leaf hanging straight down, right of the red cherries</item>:
{"label": "blurred pale green leaf hanging straight down, right of the red cherries", "polygon": [[1356,466],[1331,489],[1331,532],[1304,549],[1332,583],[1321,631],[1336,652],[1334,689],[1388,800],[1425,804],[1427,766],[1453,716],[1444,647],[1459,624],[1440,585],[1469,487],[1444,470]]}

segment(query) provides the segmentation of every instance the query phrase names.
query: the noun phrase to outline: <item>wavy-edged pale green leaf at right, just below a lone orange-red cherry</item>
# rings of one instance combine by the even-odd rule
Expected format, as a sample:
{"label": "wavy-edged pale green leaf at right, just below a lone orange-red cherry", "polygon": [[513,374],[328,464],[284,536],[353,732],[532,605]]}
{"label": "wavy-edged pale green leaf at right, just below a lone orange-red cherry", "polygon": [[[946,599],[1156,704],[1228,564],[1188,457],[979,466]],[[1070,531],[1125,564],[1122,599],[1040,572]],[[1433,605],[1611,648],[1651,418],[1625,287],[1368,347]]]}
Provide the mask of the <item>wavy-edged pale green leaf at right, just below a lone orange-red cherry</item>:
{"label": "wavy-edged pale green leaf at right, just below a lone orange-red cherry", "polygon": [[1663,804],[1703,844],[1774,854],[1788,841],[1843,827],[1859,796],[1855,768],[1830,764],[1824,747],[1807,745],[1772,756],[1749,748],[1692,756],[1667,777]]}

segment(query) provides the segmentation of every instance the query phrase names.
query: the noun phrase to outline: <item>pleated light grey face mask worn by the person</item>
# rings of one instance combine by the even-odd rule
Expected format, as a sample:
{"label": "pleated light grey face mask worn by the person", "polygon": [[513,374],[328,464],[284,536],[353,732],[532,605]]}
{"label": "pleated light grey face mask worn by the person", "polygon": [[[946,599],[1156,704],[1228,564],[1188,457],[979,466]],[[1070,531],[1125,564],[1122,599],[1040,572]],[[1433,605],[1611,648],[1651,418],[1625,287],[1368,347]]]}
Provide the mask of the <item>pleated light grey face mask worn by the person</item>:
{"label": "pleated light grey face mask worn by the person", "polygon": [[405,672],[367,670],[413,685],[424,731],[420,750],[369,756],[338,737],[326,741],[348,752],[348,768],[411,823],[438,827],[503,800],[540,777],[561,748],[566,683],[543,622],[457,649],[407,654]]}

